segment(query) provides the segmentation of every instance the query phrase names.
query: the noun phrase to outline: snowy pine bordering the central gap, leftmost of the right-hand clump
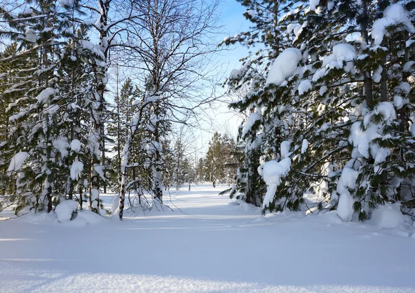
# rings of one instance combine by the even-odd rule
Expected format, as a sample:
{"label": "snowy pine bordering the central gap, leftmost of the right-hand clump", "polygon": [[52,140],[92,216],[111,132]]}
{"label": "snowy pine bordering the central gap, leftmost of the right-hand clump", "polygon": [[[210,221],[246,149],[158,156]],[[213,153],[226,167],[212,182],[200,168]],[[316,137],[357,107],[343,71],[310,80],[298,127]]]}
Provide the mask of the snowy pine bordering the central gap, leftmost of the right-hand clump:
{"label": "snowy pine bordering the central gap, leftmost of the right-hand clump", "polygon": [[[289,44],[279,24],[279,17],[295,7],[297,1],[240,2],[247,8],[244,16],[252,22],[252,27],[248,32],[225,37],[222,44],[241,43],[246,46],[259,46],[259,50],[242,59],[242,67],[233,70],[226,82],[231,92],[242,91],[243,95],[241,100],[232,103],[230,107],[247,115],[239,129],[241,167],[236,188],[230,191],[230,196],[232,198],[240,193],[246,202],[260,206],[266,184],[258,169],[262,168],[265,160],[281,159],[279,145],[287,135],[288,122],[284,121],[282,113],[286,106],[280,101],[285,90],[280,88],[281,91],[277,91],[273,83],[279,82],[279,86],[284,79],[293,74],[288,71],[290,68],[297,68],[297,63],[301,59],[299,51],[291,50],[290,58],[293,65],[288,66],[288,70],[280,75],[281,81],[267,80],[266,77],[273,60],[288,48]],[[292,27],[291,30],[297,28]]]}

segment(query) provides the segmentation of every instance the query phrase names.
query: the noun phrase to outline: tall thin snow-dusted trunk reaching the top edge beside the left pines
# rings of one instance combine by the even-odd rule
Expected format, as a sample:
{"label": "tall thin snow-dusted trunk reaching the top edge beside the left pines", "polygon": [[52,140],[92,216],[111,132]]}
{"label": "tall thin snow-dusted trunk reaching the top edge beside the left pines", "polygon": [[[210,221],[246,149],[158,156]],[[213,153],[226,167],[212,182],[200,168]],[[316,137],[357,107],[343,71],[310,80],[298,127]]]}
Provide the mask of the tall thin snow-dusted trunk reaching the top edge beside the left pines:
{"label": "tall thin snow-dusted trunk reaching the top edge beside the left pines", "polygon": [[100,177],[105,180],[104,104],[105,93],[108,91],[107,72],[110,65],[110,51],[117,46],[123,46],[118,40],[120,35],[131,27],[131,21],[138,18],[134,12],[136,5],[134,0],[98,0],[98,6],[91,3],[82,5],[84,9],[92,13],[91,19],[98,18],[95,23],[91,23],[91,26],[98,34],[97,52],[101,56],[101,59],[95,62],[95,93],[91,101],[92,127],[89,133],[89,150],[92,154],[89,205],[96,212],[98,212],[100,202]]}

